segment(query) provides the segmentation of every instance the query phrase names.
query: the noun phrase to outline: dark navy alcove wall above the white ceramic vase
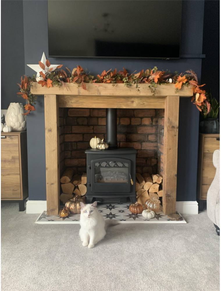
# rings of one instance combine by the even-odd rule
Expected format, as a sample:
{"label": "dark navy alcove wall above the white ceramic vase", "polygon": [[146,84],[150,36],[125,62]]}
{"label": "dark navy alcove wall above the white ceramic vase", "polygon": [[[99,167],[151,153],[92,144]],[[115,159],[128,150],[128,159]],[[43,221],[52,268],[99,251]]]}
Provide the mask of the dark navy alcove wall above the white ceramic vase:
{"label": "dark navy alcove wall above the white ceramic vase", "polygon": [[1,1],[1,109],[10,102],[25,104],[16,94],[24,64],[23,1]]}

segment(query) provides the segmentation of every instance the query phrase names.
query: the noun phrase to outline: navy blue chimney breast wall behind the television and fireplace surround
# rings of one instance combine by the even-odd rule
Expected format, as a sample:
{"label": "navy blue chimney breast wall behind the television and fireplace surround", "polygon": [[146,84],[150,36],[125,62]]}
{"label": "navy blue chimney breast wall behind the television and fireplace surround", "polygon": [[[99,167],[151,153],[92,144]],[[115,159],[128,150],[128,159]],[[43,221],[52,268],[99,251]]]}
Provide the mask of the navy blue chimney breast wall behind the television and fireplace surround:
{"label": "navy blue chimney breast wall behind the television and fireplace surround", "polygon": [[[47,1],[24,1],[25,64],[38,64],[43,51],[48,56]],[[183,1],[181,54],[202,54],[204,1]],[[30,29],[35,27],[35,29]],[[77,43],[77,42],[76,42]],[[193,69],[200,79],[201,59],[129,60],[129,59],[73,59],[49,58],[51,64],[63,64],[69,69],[76,65],[92,74],[104,69],[122,69],[133,72],[157,66],[158,69]],[[34,71],[25,66],[25,73]],[[30,200],[46,200],[44,100],[40,97],[36,111],[27,116],[28,185]],[[197,147],[199,111],[190,98],[180,99],[177,201],[196,200]]]}

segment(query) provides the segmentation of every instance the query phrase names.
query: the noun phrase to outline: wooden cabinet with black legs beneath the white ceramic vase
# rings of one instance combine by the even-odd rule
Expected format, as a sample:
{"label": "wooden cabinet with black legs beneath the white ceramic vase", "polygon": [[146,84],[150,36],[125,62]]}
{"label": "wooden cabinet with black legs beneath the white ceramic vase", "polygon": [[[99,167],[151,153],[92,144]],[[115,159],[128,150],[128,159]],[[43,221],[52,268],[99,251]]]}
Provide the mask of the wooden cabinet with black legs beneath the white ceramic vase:
{"label": "wooden cabinet with black legs beneath the white ceramic vase", "polygon": [[27,197],[27,132],[1,132],[1,200],[17,200],[23,211]]}

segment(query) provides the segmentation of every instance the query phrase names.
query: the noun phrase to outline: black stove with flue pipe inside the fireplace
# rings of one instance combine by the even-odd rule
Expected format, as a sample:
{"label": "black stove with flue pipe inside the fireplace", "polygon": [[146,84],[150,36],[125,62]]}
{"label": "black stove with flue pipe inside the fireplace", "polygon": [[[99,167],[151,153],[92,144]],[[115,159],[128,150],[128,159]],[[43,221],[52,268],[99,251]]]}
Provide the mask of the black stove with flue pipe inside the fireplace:
{"label": "black stove with flue pipe inside the fireplace", "polygon": [[135,148],[117,148],[117,109],[106,109],[108,150],[88,148],[87,203],[124,203],[127,197],[136,202]]}

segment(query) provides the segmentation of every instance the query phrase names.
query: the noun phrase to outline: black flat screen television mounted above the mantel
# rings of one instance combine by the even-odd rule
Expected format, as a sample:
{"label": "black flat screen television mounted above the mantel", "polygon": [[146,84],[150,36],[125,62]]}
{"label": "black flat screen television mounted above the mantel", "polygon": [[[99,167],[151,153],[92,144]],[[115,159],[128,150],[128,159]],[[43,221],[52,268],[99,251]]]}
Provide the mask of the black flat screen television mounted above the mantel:
{"label": "black flat screen television mounted above the mantel", "polygon": [[182,1],[48,1],[49,57],[179,59]]}

